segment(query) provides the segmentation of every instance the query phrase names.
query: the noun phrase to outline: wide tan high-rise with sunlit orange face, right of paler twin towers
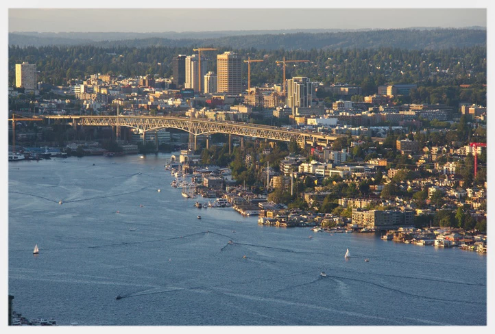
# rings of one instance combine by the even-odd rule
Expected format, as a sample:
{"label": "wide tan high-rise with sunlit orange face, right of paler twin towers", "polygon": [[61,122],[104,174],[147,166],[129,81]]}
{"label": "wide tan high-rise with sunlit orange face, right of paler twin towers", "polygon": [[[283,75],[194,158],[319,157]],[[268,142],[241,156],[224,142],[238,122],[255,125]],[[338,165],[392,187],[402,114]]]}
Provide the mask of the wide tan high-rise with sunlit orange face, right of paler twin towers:
{"label": "wide tan high-rise with sunlit orange face, right of paler twin towers", "polygon": [[228,94],[241,94],[242,60],[237,53],[226,51],[217,55],[217,92]]}

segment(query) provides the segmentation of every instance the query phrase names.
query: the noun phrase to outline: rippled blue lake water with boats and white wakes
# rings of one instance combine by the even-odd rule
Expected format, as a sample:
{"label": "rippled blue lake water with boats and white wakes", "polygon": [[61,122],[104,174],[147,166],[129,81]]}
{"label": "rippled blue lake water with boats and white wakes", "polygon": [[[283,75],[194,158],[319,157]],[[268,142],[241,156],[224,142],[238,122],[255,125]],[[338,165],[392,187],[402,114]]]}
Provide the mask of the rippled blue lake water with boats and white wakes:
{"label": "rippled blue lake water with boats and white wakes", "polygon": [[486,255],[197,209],[169,156],[9,163],[13,309],[80,326],[487,324]]}

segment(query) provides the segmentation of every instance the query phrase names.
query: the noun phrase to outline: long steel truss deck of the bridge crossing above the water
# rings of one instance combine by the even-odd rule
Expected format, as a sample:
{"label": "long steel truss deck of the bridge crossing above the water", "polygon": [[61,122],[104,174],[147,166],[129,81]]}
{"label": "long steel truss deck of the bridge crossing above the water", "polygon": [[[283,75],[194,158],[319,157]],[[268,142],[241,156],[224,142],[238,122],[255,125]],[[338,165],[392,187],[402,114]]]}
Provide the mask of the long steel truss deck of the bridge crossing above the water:
{"label": "long steel truss deck of the bridge crossing above the water", "polygon": [[[225,133],[230,136],[247,136],[253,138],[264,138],[267,140],[282,140],[291,142],[295,140],[300,146],[306,144],[327,146],[341,136],[326,135],[312,131],[299,129],[285,129],[282,127],[271,127],[269,125],[257,125],[233,121],[208,120],[204,118],[186,118],[177,116],[80,116],[80,115],[49,115],[40,116],[49,120],[71,120],[74,126],[112,126],[131,127],[141,132],[158,131],[159,129],[173,128],[192,133],[195,137],[210,133]],[[22,118],[19,118],[22,120]],[[357,138],[357,136],[353,136]],[[144,137],[143,137],[144,138]],[[383,140],[383,138],[372,138]]]}

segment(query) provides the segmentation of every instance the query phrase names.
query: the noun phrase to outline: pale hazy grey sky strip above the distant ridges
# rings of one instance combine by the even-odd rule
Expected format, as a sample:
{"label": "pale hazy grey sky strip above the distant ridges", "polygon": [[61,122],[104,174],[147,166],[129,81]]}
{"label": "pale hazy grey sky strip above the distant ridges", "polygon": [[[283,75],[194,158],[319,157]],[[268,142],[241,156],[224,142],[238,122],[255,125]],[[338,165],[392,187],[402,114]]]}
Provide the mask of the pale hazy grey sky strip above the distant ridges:
{"label": "pale hazy grey sky strip above the distant ridges", "polygon": [[483,8],[10,8],[8,18],[10,32],[180,32],[487,26],[487,10]]}

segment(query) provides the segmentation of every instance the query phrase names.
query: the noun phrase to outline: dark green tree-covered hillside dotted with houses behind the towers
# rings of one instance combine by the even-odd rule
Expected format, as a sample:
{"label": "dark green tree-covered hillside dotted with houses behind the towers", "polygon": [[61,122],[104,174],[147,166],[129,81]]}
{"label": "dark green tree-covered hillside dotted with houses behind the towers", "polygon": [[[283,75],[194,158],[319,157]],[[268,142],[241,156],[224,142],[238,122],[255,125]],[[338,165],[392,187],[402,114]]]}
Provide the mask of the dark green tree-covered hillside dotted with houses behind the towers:
{"label": "dark green tree-covered hillside dotted with houses behind the towers", "polygon": [[[213,45],[215,46],[215,45]],[[216,47],[216,46],[215,46]],[[216,71],[215,54],[230,49],[217,47],[210,57],[208,70]],[[329,84],[355,84],[363,88],[363,95],[376,93],[383,84],[418,84],[411,102],[446,101],[457,99],[485,99],[487,73],[486,47],[465,47],[440,50],[407,50],[383,47],[379,49],[311,49],[289,51],[278,49],[234,49],[241,56],[264,59],[251,65],[252,86],[280,84],[282,68],[277,60],[309,60],[289,64],[287,79],[310,77]],[[14,83],[15,64],[36,64],[38,81],[63,85],[72,78],[83,79],[94,73],[110,73],[132,77],[155,75],[169,77],[171,62],[178,54],[192,54],[191,47],[9,47],[9,82]],[[243,63],[243,77],[247,64]],[[459,90],[460,84],[472,84],[470,90]],[[478,87],[479,89],[475,89]],[[436,89],[435,89],[436,88]],[[473,90],[475,89],[475,90]],[[484,89],[484,90],[483,90]],[[464,94],[460,97],[459,94]]]}

